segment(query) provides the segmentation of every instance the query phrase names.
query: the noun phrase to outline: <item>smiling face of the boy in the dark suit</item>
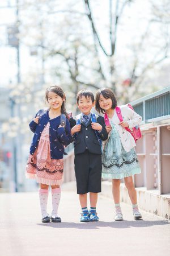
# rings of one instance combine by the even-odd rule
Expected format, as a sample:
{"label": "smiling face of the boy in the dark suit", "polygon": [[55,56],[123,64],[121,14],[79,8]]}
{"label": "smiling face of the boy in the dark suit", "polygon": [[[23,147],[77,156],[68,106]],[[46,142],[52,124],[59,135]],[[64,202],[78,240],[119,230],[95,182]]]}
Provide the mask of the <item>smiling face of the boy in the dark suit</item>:
{"label": "smiling face of the boy in the dark suit", "polygon": [[84,115],[88,115],[91,112],[92,107],[95,105],[95,102],[93,103],[90,97],[82,96],[79,98],[77,106]]}

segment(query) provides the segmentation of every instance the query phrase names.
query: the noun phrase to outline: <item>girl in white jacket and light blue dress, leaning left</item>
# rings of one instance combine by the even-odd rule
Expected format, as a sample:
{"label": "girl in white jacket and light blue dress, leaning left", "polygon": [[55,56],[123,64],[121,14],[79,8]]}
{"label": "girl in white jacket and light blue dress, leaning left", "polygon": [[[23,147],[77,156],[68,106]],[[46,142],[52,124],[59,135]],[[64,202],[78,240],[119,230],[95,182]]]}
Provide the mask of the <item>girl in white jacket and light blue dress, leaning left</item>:
{"label": "girl in white jacket and light blue dress, leaning left", "polygon": [[103,179],[112,179],[113,199],[115,204],[116,216],[114,220],[123,220],[120,207],[120,183],[124,178],[126,188],[133,207],[133,216],[135,220],[142,218],[137,205],[137,192],[134,188],[134,174],[141,174],[141,168],[137,154],[135,152],[135,141],[125,127],[135,127],[142,121],[142,117],[130,109],[128,106],[120,106],[123,121],[117,116],[116,98],[109,88],[103,88],[96,93],[97,112],[107,113],[109,123],[106,126],[109,133],[109,139],[105,144],[102,155],[102,177]]}

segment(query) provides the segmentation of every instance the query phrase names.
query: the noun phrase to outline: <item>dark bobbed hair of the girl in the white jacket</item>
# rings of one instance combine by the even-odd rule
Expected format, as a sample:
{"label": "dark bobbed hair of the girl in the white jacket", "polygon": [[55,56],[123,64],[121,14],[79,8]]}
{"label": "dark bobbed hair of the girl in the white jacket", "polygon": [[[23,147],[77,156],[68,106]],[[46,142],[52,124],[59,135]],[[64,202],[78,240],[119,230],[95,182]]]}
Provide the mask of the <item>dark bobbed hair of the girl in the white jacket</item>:
{"label": "dark bobbed hair of the girl in the white jacket", "polygon": [[101,112],[101,113],[105,113],[104,109],[100,108],[99,105],[99,99],[100,99],[100,95],[103,95],[104,98],[111,98],[112,100],[112,109],[115,109],[117,106],[117,100],[116,97],[114,96],[114,93],[111,89],[109,88],[101,88],[99,90],[97,90],[96,93],[96,106],[95,109],[97,110],[97,112]]}

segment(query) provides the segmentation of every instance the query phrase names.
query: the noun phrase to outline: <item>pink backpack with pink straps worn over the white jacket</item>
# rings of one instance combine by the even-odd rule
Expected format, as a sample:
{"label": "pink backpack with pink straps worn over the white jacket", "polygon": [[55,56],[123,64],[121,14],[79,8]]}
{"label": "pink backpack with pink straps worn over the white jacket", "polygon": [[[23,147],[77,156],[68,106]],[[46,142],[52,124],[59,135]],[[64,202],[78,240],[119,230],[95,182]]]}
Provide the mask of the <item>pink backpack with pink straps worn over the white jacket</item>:
{"label": "pink backpack with pink straps worn over the white jacket", "polygon": [[[128,107],[130,109],[134,110],[133,107],[130,104],[128,104]],[[120,119],[120,122],[124,121],[123,118],[122,118],[122,113],[121,113],[120,106],[116,106],[115,110],[116,110],[116,114],[118,116],[118,119]],[[110,125],[107,113],[104,114],[104,122],[105,122],[106,126]],[[129,133],[133,136],[135,142],[142,137],[141,129],[139,128],[138,125],[133,127],[132,130],[130,130],[128,127],[125,127],[125,129],[126,129],[126,131],[129,131]]]}

